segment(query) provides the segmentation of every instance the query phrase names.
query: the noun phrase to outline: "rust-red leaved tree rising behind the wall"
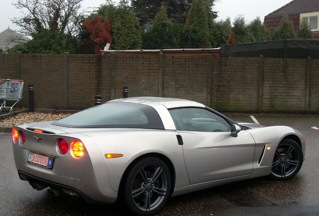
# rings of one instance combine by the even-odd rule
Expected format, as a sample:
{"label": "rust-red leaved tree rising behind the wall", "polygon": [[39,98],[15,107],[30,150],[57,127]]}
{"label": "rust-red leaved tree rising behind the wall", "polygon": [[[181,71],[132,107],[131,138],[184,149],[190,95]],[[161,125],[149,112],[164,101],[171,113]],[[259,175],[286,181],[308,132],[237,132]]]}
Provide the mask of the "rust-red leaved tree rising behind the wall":
{"label": "rust-red leaved tree rising behind the wall", "polygon": [[92,35],[92,39],[95,42],[95,53],[101,54],[100,50],[104,48],[105,44],[112,42],[111,24],[108,19],[102,21],[101,17],[95,14],[92,19],[84,20],[83,27]]}

